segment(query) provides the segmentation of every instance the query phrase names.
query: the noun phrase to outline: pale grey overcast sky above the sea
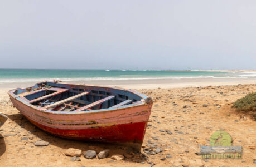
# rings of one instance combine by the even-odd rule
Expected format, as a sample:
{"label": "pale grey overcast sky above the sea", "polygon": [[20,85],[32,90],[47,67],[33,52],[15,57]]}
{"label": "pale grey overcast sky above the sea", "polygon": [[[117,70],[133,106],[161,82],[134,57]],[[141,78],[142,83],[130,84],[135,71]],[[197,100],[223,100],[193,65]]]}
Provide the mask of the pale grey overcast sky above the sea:
{"label": "pale grey overcast sky above the sea", "polygon": [[255,69],[256,1],[0,1],[0,68]]}

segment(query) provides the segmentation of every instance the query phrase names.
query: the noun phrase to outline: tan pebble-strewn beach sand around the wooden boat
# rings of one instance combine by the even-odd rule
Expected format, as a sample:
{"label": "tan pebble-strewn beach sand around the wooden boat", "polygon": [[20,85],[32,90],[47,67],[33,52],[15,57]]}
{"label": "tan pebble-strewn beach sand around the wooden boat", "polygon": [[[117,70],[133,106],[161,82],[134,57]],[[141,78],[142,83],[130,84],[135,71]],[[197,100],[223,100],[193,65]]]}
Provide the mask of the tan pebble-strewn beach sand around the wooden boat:
{"label": "tan pebble-strewn beach sand around the wooden boat", "polygon": [[[71,161],[71,157],[65,155],[68,148],[82,151],[110,149],[110,156],[123,154],[127,148],[49,135],[37,129],[12,106],[7,95],[9,89],[0,89],[0,111],[8,116],[7,122],[0,128],[0,136],[3,137],[0,137],[0,166],[151,166],[149,163],[156,164],[154,166],[254,166],[256,122],[249,115],[236,112],[231,105],[236,99],[255,92],[255,83],[252,80],[120,84],[153,98],[143,147],[148,149],[155,145],[155,148],[160,147],[163,151],[155,155],[145,154],[148,160],[140,158],[141,154],[134,154],[132,158],[119,161],[110,157],[89,160],[83,156],[80,157],[81,161]],[[240,120],[240,116],[244,116],[243,119]],[[170,130],[172,134],[167,134],[165,130]],[[218,130],[228,132],[233,145],[243,146],[241,159],[201,160],[201,156],[195,154],[200,151],[201,145],[209,145],[211,135]],[[33,143],[39,139],[49,141],[50,145],[34,146]],[[145,153],[143,149],[141,151]],[[167,155],[171,155],[171,158],[166,158]]]}

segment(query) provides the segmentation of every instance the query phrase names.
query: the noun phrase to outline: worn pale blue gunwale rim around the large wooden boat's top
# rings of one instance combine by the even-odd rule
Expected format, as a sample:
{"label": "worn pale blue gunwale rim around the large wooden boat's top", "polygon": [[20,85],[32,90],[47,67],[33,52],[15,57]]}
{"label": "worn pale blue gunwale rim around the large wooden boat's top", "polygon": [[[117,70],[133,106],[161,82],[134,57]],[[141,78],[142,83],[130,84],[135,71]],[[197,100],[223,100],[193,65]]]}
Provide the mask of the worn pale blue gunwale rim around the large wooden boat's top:
{"label": "worn pale blue gunwale rim around the large wooden boat's top", "polygon": [[[47,81],[48,82],[48,81]],[[31,86],[31,87],[34,87],[36,86],[37,84],[41,84],[42,82],[38,82],[36,83],[35,85]],[[54,83],[54,82],[51,82],[51,83]],[[23,98],[23,96],[18,96],[18,95],[15,95],[13,92],[18,90],[18,89],[21,89],[21,90],[26,90],[27,88],[16,88],[16,89],[12,89],[12,90],[9,90],[8,91],[8,94],[9,96],[13,97],[13,99],[16,99],[18,101],[20,101],[22,104],[26,105],[27,107],[31,107],[35,110],[38,110],[38,111],[41,111],[41,112],[45,112],[45,113],[49,113],[49,114],[57,114],[57,115],[66,115],[66,114],[98,114],[98,113],[101,113],[101,112],[113,112],[113,111],[116,111],[116,110],[120,110],[120,109],[130,109],[132,107],[137,107],[137,106],[143,106],[143,105],[149,105],[150,102],[152,102],[152,99],[151,97],[148,97],[146,95],[143,95],[143,94],[140,94],[139,92],[137,91],[134,91],[134,90],[131,90],[131,89],[123,89],[121,87],[117,87],[117,86],[100,86],[100,85],[89,85],[89,84],[70,84],[70,83],[66,83],[66,82],[61,82],[60,84],[66,84],[66,85],[84,85],[84,86],[91,86],[91,87],[102,87],[102,88],[110,88],[110,89],[116,89],[116,90],[121,90],[121,91],[128,91],[128,92],[131,92],[132,94],[135,94],[135,95],[138,95],[139,97],[141,97],[142,99],[140,101],[137,101],[137,102],[133,102],[132,104],[128,104],[128,105],[123,105],[123,106],[118,106],[118,107],[113,107],[113,108],[107,108],[107,109],[99,109],[99,110],[91,110],[91,111],[53,111],[53,110],[48,110],[48,109],[43,109],[42,107],[37,107],[35,105],[32,105],[30,104],[28,101],[25,101]]]}

